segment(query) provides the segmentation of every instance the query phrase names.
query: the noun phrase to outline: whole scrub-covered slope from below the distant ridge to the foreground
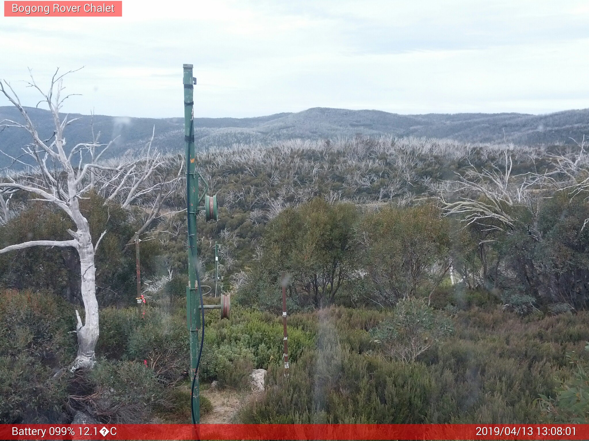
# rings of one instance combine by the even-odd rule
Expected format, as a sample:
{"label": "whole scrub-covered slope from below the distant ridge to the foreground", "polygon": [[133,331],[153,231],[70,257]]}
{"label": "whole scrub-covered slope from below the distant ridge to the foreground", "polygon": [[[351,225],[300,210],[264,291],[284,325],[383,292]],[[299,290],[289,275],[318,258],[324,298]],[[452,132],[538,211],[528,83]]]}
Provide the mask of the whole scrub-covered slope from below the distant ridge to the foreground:
{"label": "whole scrub-covered slope from below the distant ridge to the foreground", "polygon": [[[203,284],[214,286],[217,241],[233,296],[229,321],[207,313],[203,414],[210,382],[248,389],[264,368],[266,392],[236,420],[587,422],[586,402],[567,404],[571,387],[586,388],[585,146],[356,136],[197,159],[220,204],[217,222],[198,218]],[[163,164],[174,172],[181,157]],[[0,255],[2,422],[67,423],[79,411],[101,422],[190,420],[185,190],[141,233],[142,314],[130,241],[153,199],[125,208],[95,188],[80,208],[92,236],[106,231],[97,364],[66,369],[81,303],[75,252]],[[68,219],[34,199],[5,198],[0,248],[67,237]]]}

